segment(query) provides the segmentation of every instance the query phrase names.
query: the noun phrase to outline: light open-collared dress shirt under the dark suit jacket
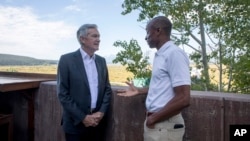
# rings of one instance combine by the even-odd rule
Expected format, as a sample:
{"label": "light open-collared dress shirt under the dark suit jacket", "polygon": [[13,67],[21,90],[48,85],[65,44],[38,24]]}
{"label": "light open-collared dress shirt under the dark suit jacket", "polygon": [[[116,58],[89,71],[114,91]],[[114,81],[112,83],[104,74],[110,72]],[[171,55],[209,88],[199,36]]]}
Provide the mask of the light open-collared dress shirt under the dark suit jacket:
{"label": "light open-collared dress shirt under the dark suit jacket", "polygon": [[90,57],[82,48],[80,48],[80,52],[82,54],[82,59],[89,82],[91,93],[91,109],[94,109],[96,107],[98,95],[98,74],[95,64],[95,55]]}

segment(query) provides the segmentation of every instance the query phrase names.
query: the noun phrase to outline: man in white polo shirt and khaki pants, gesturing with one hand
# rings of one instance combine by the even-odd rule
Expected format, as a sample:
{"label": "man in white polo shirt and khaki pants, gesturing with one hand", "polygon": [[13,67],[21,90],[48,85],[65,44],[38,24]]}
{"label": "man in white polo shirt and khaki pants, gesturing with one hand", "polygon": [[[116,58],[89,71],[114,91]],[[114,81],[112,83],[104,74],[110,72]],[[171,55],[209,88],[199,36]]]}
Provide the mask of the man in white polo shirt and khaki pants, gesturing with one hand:
{"label": "man in white polo shirt and khaki pants, gesturing with one hand", "polygon": [[149,88],[118,90],[120,96],[148,94],[144,141],[182,141],[185,123],[181,111],[189,106],[191,78],[189,59],[171,40],[172,23],[164,16],[153,18],[146,27],[146,41],[156,48]]}

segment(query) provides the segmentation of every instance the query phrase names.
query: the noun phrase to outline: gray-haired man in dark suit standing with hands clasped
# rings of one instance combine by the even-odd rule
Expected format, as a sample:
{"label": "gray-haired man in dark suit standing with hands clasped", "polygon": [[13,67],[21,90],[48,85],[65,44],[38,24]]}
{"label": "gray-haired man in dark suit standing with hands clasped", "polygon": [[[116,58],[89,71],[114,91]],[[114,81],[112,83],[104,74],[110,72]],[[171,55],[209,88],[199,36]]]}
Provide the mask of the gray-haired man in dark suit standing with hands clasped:
{"label": "gray-haired man in dark suit standing with hands clasped", "polygon": [[66,141],[102,141],[112,90],[106,61],[95,54],[100,43],[97,26],[82,25],[77,39],[80,49],[62,55],[58,64],[62,126]]}

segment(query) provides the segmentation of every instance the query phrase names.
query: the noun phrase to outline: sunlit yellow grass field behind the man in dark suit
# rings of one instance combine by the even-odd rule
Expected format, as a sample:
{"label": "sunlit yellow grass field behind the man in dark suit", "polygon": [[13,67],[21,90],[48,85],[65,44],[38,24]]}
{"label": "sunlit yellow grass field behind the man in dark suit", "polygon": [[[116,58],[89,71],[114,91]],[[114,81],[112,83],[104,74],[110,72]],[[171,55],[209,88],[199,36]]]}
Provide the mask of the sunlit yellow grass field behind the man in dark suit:
{"label": "sunlit yellow grass field behind the man in dark suit", "polygon": [[[127,72],[124,66],[108,65],[108,70],[109,70],[109,79],[112,84],[125,85],[124,82],[127,80],[127,77],[129,78],[133,77],[133,74]],[[0,71],[56,74],[57,65],[0,66]]]}

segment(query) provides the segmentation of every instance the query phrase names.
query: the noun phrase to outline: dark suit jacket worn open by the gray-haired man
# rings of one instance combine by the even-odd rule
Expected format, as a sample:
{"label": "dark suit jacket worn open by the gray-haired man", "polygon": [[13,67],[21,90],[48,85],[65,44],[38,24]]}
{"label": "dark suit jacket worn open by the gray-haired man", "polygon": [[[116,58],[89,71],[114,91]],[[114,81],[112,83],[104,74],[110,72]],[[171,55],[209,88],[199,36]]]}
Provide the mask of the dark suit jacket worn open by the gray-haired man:
{"label": "dark suit jacket worn open by the gray-haired man", "polygon": [[[111,86],[103,57],[96,55],[98,73],[98,98],[96,111],[104,115],[110,105]],[[62,55],[57,72],[57,94],[63,107],[62,125],[66,133],[79,133],[82,120],[91,111],[91,94],[80,50]]]}

